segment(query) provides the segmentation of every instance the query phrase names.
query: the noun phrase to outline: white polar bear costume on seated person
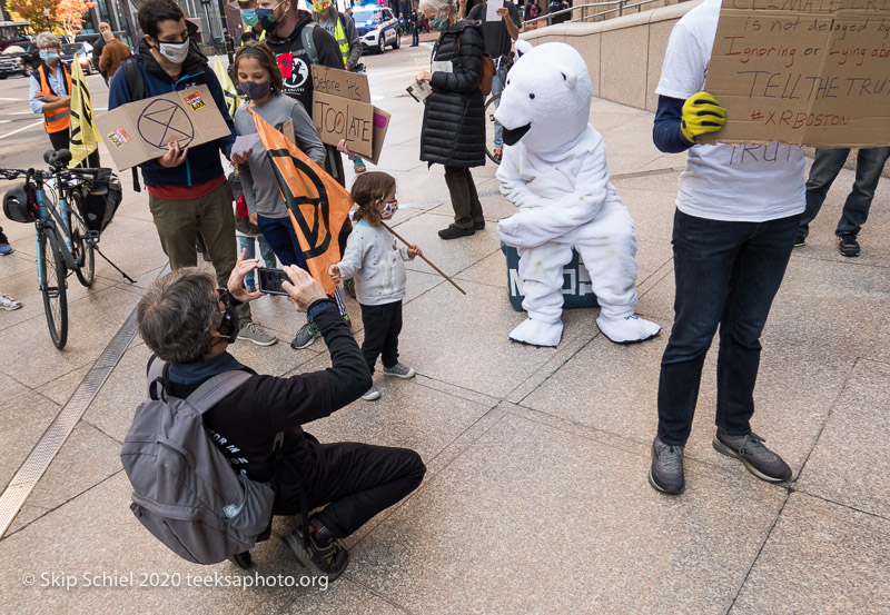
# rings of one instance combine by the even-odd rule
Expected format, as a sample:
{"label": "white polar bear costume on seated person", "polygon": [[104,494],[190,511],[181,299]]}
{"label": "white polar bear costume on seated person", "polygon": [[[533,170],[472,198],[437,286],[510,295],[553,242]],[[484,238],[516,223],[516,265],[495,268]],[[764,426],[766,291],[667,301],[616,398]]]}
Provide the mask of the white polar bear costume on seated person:
{"label": "white polar bear costume on seated person", "polygon": [[590,118],[584,59],[562,42],[532,47],[507,77],[495,119],[504,127],[497,179],[518,212],[497,232],[520,252],[528,318],[511,339],[557,346],[563,334],[563,267],[578,251],[600,302],[596,325],[612,341],[649,339],[661,327],[634,316],[636,237],[630,211],[609,181],[605,146]]}

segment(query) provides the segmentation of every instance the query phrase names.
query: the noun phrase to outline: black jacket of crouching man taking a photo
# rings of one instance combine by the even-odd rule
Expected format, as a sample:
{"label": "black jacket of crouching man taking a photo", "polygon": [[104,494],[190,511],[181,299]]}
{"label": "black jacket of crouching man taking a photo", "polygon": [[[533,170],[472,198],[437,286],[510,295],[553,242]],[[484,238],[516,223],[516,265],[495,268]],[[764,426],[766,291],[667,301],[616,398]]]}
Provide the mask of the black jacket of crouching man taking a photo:
{"label": "black jacket of crouching man taking a photo", "polygon": [[[204,415],[205,426],[236,472],[245,472],[253,480],[273,482],[276,514],[298,512],[283,507],[283,503],[299,502],[294,473],[304,484],[313,484],[318,470],[318,440],[301,425],[350,404],[372,385],[367,363],[336,306],[319,313],[315,323],[330,351],[332,367],[285,378],[245,368],[255,375]],[[182,385],[171,374],[168,391],[185,398],[206,379]],[[275,473],[273,443],[278,432],[285,433],[285,463]]]}

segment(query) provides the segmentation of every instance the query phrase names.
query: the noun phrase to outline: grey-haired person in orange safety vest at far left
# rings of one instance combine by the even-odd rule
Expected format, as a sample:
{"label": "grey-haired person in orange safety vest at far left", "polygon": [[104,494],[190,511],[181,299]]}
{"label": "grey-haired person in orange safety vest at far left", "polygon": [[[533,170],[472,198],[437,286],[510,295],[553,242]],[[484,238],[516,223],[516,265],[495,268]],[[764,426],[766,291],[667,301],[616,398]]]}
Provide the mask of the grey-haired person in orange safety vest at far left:
{"label": "grey-haired person in orange safety vest at far left", "polygon": [[[50,32],[37,36],[40,66],[31,73],[28,105],[34,113],[43,115],[43,129],[52,149],[68,149],[68,128],[71,123],[71,73],[61,62],[62,43]],[[99,167],[99,150],[89,155],[89,168]]]}

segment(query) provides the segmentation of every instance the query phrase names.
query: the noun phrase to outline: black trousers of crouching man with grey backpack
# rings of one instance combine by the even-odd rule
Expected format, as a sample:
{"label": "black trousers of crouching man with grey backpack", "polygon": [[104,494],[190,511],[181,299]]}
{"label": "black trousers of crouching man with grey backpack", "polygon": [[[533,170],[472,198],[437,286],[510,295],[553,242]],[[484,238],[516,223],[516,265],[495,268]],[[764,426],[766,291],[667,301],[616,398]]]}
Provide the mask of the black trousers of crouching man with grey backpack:
{"label": "black trousers of crouching man with grey backpack", "polygon": [[[407,496],[426,474],[421,456],[408,448],[347,442],[316,445],[316,454],[317,465],[300,470],[307,506],[309,510],[325,506],[315,517],[337,538],[349,536]],[[296,494],[291,496],[284,499],[293,502],[281,504],[299,510]]]}

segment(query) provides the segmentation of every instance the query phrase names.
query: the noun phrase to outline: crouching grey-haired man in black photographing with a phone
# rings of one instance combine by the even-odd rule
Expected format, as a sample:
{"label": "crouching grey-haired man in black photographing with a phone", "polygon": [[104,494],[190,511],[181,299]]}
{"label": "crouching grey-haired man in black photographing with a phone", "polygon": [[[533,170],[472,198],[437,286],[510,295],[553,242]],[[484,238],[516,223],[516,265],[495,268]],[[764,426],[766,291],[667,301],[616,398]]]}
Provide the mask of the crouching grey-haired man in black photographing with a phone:
{"label": "crouching grey-haired man in black photographing with a phone", "polygon": [[[236,472],[275,489],[274,515],[305,515],[323,507],[284,536],[300,565],[315,576],[337,578],[348,553],[339,544],[385,508],[412,493],[426,468],[419,455],[405,448],[356,443],[322,444],[301,425],[324,418],[357,399],[370,386],[367,364],[349,325],[322,286],[298,267],[284,268],[281,288],[297,311],[312,315],[330,353],[332,367],[286,378],[256,374],[228,354],[238,337],[238,305],[261,292],[247,292],[244,277],[259,267],[244,254],[227,289],[212,275],[194,267],[177,269],[152,282],[137,307],[139,334],[155,356],[168,361],[165,390],[186,398],[217,374],[253,374],[239,388],[204,415],[205,427]],[[149,359],[149,365],[155,360]],[[273,443],[283,432],[281,457]],[[216,437],[218,436],[218,437]],[[303,527],[308,540],[304,540]],[[269,529],[265,536],[270,535]],[[250,554],[234,557],[250,566]]]}

